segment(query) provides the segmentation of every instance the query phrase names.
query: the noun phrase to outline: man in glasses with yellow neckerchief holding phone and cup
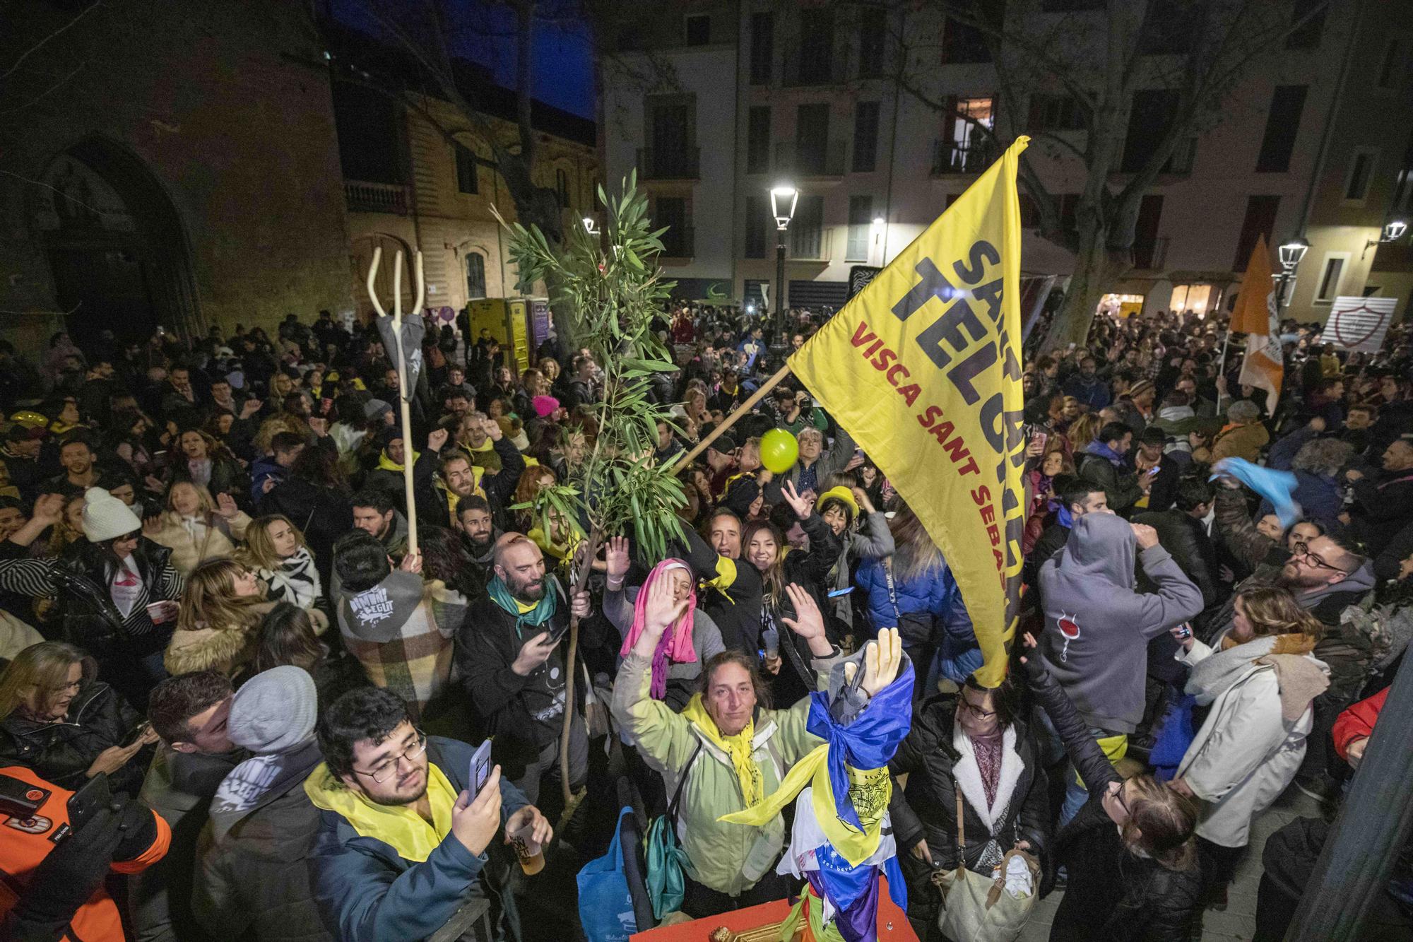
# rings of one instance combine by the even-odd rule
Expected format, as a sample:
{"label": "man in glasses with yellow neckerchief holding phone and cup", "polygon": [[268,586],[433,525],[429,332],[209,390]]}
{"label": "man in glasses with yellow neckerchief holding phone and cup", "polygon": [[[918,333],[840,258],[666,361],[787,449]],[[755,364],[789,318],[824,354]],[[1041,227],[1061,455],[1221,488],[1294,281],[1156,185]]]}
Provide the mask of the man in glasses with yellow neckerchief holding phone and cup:
{"label": "man in glasses with yellow neckerchief holding phone and cup", "polygon": [[[466,904],[487,898],[482,871],[506,887],[507,860],[487,856],[502,825],[507,835],[533,826],[541,846],[552,837],[499,767],[473,793],[475,750],[425,735],[389,690],[349,690],[325,710],[317,734],[324,764],[304,785],[321,810],[311,871],[325,922],[341,939],[463,938],[479,915]],[[495,897],[516,921],[513,894]]]}

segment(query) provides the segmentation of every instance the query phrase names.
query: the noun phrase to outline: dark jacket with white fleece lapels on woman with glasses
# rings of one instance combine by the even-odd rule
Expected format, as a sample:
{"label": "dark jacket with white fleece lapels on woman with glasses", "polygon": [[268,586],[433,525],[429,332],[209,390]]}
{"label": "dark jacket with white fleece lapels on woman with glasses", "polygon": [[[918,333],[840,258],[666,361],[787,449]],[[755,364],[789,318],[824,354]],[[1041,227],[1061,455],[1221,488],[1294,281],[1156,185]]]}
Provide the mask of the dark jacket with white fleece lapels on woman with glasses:
{"label": "dark jacket with white fleece lapels on woman with glasses", "polygon": [[[918,840],[926,840],[934,866],[944,870],[957,867],[957,779],[961,774],[966,866],[978,867],[982,850],[992,837],[1002,853],[1026,840],[1030,842],[1031,853],[1044,859],[1050,818],[1048,785],[1040,747],[1030,726],[1023,720],[1010,726],[1015,731],[1015,748],[1002,760],[996,795],[1000,815],[988,826],[972,798],[981,786],[976,761],[972,758],[965,762],[965,768],[959,767],[964,758],[954,745],[955,716],[957,694],[944,693],[926,700],[917,709],[911,731],[889,762],[889,771],[894,777],[907,775],[907,788],[894,785],[889,802],[899,854],[910,850]],[[1015,772],[1007,765],[1012,760],[1019,760]],[[1007,785],[1009,798],[1003,801]],[[989,870],[986,876],[991,876]]]}

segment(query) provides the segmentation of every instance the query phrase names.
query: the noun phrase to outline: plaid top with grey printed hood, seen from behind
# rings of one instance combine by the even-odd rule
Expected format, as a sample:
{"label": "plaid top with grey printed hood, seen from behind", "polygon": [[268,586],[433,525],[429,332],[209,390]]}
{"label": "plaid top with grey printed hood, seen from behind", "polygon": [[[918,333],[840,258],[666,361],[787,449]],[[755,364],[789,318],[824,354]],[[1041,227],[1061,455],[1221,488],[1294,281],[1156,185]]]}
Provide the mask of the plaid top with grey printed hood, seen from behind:
{"label": "plaid top with grey printed hood, seen from behind", "polygon": [[455,625],[439,625],[420,576],[393,570],[372,588],[339,587],[339,632],[374,686],[407,700],[417,721],[451,676]]}

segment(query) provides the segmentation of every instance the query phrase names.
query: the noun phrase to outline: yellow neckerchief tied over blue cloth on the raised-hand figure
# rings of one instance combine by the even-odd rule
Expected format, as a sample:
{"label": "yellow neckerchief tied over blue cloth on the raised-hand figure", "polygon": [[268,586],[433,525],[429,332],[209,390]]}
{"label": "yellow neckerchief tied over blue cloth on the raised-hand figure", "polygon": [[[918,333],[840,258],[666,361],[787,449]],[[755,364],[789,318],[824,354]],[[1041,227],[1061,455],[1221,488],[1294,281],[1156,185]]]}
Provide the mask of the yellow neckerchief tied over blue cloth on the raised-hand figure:
{"label": "yellow neckerchief tied over blue cloth on the raised-hand figure", "polygon": [[834,802],[834,785],[829,782],[829,745],[821,744],[811,750],[803,760],[794,764],[780,788],[771,792],[757,808],[722,815],[718,820],[732,825],[753,825],[764,827],[774,816],[784,810],[784,806],[796,799],[800,791],[810,785],[810,803],[814,808],[814,818],[820,823],[829,843],[838,850],[849,866],[858,867],[873,856],[879,849],[879,839],[883,833],[883,812],[887,810],[889,798],[893,795],[893,781],[889,778],[887,767],[855,768],[845,765],[849,777],[849,799],[853,812],[859,816],[863,830],[839,819],[839,812]]}

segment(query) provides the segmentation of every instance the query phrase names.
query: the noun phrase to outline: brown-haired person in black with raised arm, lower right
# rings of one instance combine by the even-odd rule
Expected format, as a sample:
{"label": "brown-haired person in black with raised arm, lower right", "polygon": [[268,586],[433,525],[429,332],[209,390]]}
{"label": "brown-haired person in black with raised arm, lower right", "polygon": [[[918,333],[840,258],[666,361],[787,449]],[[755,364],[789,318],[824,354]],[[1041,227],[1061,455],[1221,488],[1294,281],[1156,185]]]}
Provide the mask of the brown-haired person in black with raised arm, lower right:
{"label": "brown-haired person in black with raised arm, lower right", "polygon": [[1051,842],[1041,891],[1057,867],[1068,884],[1050,928],[1051,942],[1152,939],[1186,942],[1201,914],[1197,802],[1152,775],[1125,778],[1089,735],[1084,717],[1036,656],[1024,635],[1022,658],[1036,702],[1050,717],[1089,799]]}

